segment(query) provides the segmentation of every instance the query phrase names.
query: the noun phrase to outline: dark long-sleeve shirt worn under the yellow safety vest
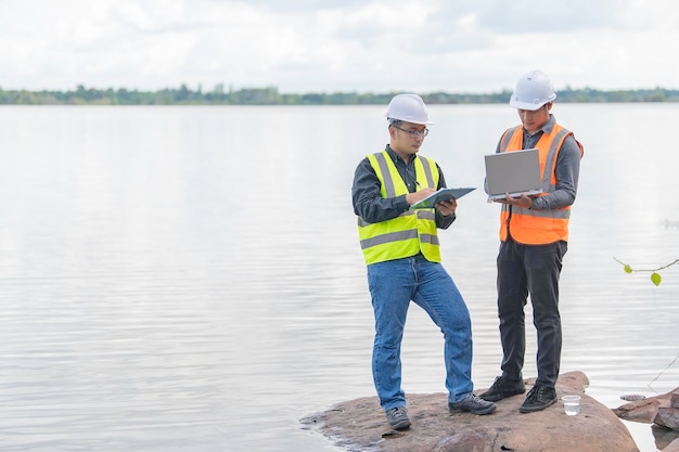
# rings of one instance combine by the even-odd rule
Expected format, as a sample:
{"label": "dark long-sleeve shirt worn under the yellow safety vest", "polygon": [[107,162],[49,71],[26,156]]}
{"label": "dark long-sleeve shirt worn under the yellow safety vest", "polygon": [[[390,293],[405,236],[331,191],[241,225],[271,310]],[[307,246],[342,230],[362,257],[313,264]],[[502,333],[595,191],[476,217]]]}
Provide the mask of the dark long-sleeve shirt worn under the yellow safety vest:
{"label": "dark long-sleeve shirt worn under the yellow safety vest", "polygon": [[[418,156],[413,155],[412,158],[410,158],[410,162],[406,163],[389,147],[388,144],[386,145],[386,152],[392,158],[392,162],[394,162],[394,165],[396,165],[396,169],[403,179],[408,191],[410,193],[417,192],[418,183],[414,162]],[[444,179],[444,173],[438,164],[436,164],[436,168],[439,173],[438,186],[436,188],[436,190],[438,190],[446,186],[446,180]],[[381,221],[392,220],[410,208],[406,202],[406,195],[384,198],[382,197],[381,189],[382,185],[380,178],[377,178],[370,160],[366,157],[358,164],[354,175],[351,201],[354,203],[354,212],[369,223],[379,223]],[[437,228],[448,229],[454,219],[454,214],[445,217],[436,210]]]}

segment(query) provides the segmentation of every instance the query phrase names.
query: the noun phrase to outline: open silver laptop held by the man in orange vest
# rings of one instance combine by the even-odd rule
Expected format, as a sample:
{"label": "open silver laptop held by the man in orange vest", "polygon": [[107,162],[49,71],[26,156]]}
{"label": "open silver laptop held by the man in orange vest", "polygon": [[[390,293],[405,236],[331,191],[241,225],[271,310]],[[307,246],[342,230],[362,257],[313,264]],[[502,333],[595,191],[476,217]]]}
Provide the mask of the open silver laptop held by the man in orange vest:
{"label": "open silver laptop held by the man in orange vest", "polygon": [[507,193],[510,197],[542,193],[537,148],[501,152],[486,155],[485,158],[488,202],[503,199]]}

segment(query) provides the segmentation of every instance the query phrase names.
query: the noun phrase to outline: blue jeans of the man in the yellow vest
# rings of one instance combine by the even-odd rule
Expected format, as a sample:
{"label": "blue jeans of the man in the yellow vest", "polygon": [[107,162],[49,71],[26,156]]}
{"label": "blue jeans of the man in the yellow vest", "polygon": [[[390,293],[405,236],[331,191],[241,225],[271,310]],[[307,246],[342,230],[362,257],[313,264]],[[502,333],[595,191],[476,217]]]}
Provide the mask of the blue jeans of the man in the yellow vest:
{"label": "blue jeans of the man in the yellow vest", "polygon": [[422,255],[368,266],[375,314],[372,375],[384,410],[406,405],[400,349],[410,301],[426,311],[444,333],[448,401],[472,390],[472,325],[460,290],[440,263]]}

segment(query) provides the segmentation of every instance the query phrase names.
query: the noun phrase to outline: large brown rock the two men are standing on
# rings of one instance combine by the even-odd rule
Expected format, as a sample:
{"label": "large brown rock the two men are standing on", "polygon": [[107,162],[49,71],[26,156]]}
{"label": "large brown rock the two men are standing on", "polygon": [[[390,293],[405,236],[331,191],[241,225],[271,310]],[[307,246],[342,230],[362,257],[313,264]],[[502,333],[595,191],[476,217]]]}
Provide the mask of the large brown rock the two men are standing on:
{"label": "large brown rock the two men are standing on", "polygon": [[[528,389],[534,383],[526,380]],[[584,393],[588,383],[584,373],[571,372],[556,385],[560,398],[581,396],[577,416],[567,416],[561,401],[537,413],[520,413],[522,396],[499,401],[490,415],[451,415],[445,393],[415,393],[407,395],[412,426],[405,431],[389,428],[376,397],[338,403],[302,423],[348,451],[639,452],[623,422]]]}

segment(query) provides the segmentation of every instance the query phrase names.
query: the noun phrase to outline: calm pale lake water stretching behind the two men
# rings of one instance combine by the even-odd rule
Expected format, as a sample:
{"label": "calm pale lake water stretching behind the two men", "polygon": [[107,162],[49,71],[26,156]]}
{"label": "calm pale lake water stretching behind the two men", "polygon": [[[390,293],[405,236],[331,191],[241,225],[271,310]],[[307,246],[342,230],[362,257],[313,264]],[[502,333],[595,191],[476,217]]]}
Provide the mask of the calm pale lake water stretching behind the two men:
{"label": "calm pale lake water stretching behind the two men", "polygon": [[[382,106],[0,107],[3,451],[337,449],[299,419],[374,396],[350,202]],[[679,386],[678,104],[555,104],[585,144],[562,273],[562,372],[607,406]],[[483,155],[504,105],[431,106],[422,153],[461,199],[444,264],[469,305],[477,389],[499,373],[498,206]],[[528,328],[525,376],[535,376]],[[407,392],[443,392],[413,305]],[[375,406],[375,410],[380,410]],[[651,426],[626,423],[641,452]]]}

